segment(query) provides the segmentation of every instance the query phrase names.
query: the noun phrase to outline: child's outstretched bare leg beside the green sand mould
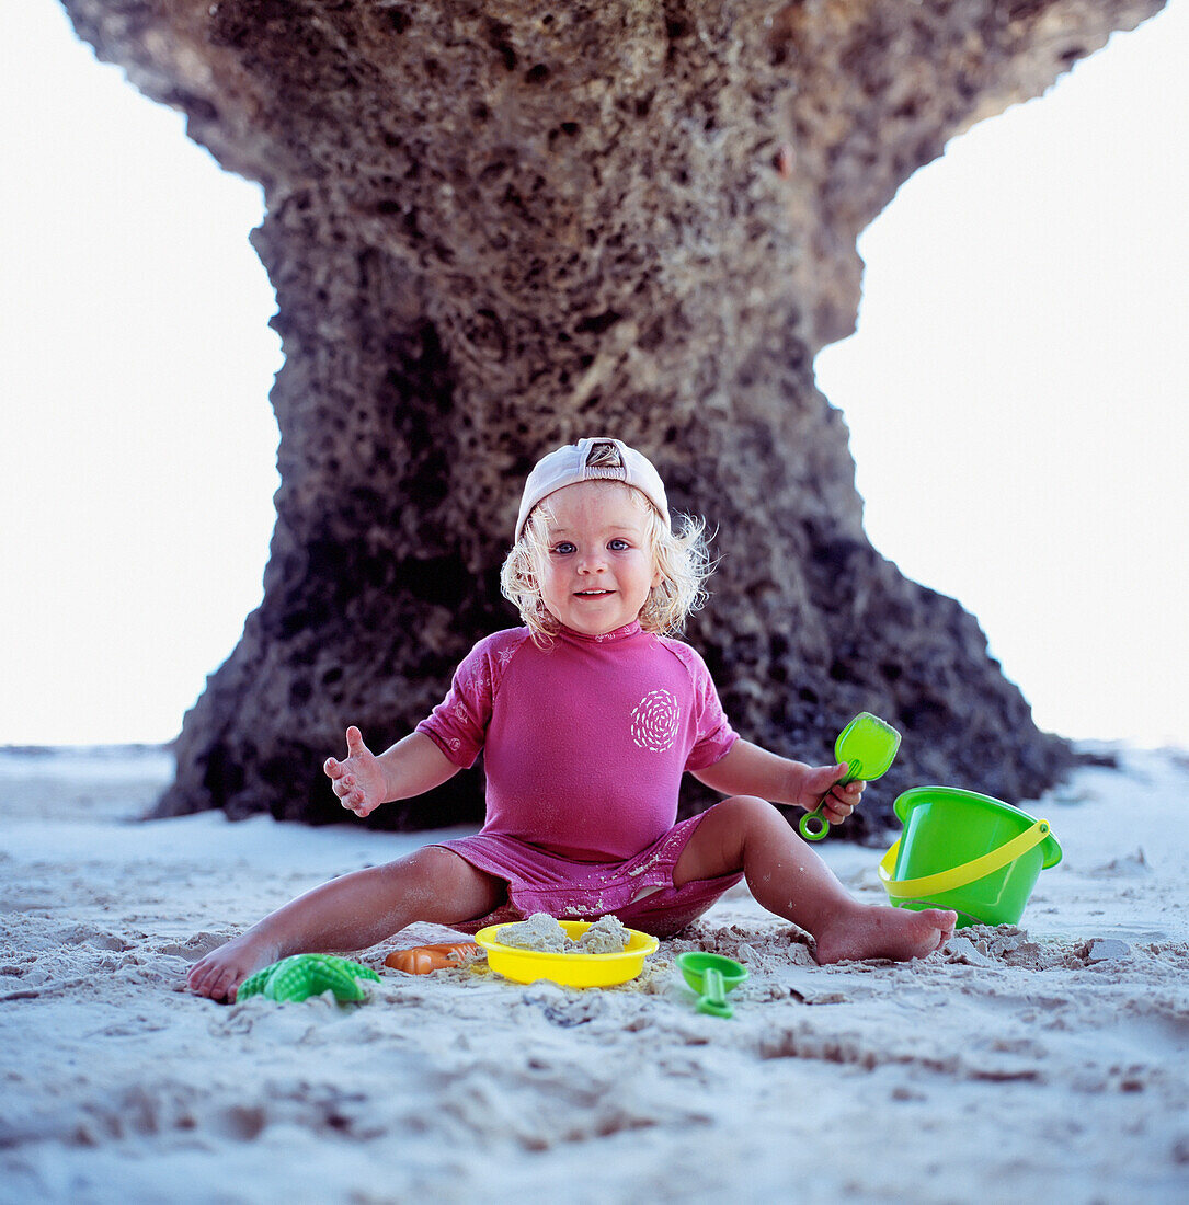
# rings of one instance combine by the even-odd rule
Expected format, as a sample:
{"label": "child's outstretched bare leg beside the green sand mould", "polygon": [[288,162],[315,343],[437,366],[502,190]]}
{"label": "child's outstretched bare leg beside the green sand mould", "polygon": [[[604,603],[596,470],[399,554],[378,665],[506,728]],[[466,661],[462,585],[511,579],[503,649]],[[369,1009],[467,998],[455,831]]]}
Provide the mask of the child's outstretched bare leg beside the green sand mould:
{"label": "child's outstretched bare leg beside the green sand mould", "polygon": [[234,1000],[248,975],[300,953],[367,950],[414,921],[457,924],[499,905],[506,884],[451,850],[427,846],[314,888],[197,962],[192,992]]}

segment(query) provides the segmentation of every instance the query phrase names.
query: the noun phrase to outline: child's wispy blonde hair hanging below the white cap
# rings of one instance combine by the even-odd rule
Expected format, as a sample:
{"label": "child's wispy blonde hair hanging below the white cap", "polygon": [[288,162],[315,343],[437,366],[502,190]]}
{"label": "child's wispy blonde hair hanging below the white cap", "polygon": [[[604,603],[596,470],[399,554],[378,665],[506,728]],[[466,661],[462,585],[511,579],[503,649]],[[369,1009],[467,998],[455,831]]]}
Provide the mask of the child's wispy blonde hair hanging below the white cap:
{"label": "child's wispy blonde hair hanging below the white cap", "polygon": [[[686,619],[709,598],[704,583],[714,572],[714,562],[707,549],[705,523],[690,515],[675,515],[679,530],[670,531],[656,507],[634,486],[611,481],[605,484],[627,489],[646,515],[644,537],[661,577],[640,609],[640,627],[658,636],[678,635]],[[537,576],[538,565],[549,557],[547,502],[545,499],[533,507],[499,571],[500,592],[520,612],[538,645],[549,645],[558,630],[557,621],[545,607]]]}

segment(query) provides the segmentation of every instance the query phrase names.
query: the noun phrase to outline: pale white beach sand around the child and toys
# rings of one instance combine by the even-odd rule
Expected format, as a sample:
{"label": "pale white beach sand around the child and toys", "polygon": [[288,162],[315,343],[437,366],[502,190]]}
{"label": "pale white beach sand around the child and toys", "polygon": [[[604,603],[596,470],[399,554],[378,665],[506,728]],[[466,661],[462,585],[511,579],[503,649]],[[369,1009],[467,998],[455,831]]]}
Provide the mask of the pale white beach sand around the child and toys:
{"label": "pale white beach sand around the child and toys", "polygon": [[[1084,770],[1017,930],[815,966],[736,889],[623,988],[414,977],[232,1007],[189,962],[426,840],[218,815],[128,823],[159,754],[0,756],[2,1201],[1184,1201],[1189,759]],[[875,788],[872,788],[875,789]],[[878,852],[820,846],[882,899]],[[693,1012],[681,950],[740,958]]]}

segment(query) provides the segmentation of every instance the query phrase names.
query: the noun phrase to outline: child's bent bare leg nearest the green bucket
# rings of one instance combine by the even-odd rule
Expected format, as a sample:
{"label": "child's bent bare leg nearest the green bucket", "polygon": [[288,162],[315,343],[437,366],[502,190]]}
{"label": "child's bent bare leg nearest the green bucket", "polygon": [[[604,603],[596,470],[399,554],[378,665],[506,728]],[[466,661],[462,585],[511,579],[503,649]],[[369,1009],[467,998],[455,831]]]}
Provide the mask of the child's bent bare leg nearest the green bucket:
{"label": "child's bent bare leg nearest the green bucket", "polygon": [[673,870],[676,887],[742,870],[751,894],[813,934],[819,963],[922,958],[954,931],[954,912],[860,904],[775,807],[736,795],[711,807]]}

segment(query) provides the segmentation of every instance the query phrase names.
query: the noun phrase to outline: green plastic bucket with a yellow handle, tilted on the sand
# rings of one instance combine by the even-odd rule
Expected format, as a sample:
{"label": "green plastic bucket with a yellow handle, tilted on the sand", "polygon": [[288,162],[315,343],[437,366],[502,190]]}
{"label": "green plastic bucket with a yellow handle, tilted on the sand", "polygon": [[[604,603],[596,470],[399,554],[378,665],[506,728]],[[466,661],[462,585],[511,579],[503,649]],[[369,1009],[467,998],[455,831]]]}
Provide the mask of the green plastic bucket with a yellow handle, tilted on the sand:
{"label": "green plastic bucket with a yellow handle, tilted on the sand", "polygon": [[915,787],[892,807],[904,831],[879,863],[889,900],[954,909],[960,929],[1017,924],[1041,870],[1061,860],[1048,821],[990,795]]}

